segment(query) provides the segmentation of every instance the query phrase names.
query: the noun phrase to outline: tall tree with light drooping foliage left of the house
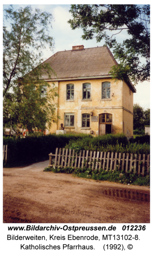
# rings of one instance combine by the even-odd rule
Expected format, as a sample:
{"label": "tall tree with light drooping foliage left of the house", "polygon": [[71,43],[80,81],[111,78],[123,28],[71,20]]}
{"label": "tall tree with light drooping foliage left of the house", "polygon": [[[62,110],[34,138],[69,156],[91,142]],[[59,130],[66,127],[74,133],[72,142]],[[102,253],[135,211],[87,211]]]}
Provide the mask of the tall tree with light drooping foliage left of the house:
{"label": "tall tree with light drooping foliage left of the house", "polygon": [[[55,73],[49,64],[42,63],[42,49],[54,47],[49,36],[52,14],[33,10],[31,6],[13,10],[5,9],[5,19],[11,20],[10,27],[3,26],[3,117],[4,125],[15,130],[32,128],[45,130],[55,116],[58,96],[57,88],[43,80],[47,74]],[[4,20],[5,22],[5,20]],[[46,86],[46,96],[41,96],[42,86]]]}

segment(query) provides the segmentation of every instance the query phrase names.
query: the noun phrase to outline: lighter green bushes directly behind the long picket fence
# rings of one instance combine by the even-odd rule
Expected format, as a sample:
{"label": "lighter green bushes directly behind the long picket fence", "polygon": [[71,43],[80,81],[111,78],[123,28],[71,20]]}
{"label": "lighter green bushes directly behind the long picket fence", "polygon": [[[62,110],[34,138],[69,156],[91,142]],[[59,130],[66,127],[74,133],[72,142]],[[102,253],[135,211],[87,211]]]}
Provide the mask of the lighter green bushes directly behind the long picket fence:
{"label": "lighter green bushes directly behind the long picket fence", "polygon": [[[143,143],[143,144],[139,144]],[[130,143],[131,142],[131,143]],[[80,150],[89,151],[104,151],[104,152],[119,152],[133,154],[150,154],[150,136],[136,137],[127,142],[124,134],[107,134],[98,137],[84,137],[78,140],[70,140],[65,148],[75,149],[75,152]]]}

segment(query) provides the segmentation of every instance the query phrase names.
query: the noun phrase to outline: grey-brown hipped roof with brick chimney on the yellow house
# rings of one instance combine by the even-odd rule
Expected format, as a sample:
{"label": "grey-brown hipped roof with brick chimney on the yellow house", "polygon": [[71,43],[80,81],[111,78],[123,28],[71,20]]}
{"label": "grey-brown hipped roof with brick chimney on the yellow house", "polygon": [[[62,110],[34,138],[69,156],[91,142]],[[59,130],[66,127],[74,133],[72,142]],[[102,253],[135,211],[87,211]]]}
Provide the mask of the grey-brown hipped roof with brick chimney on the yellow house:
{"label": "grey-brown hipped roof with brick chimney on the yellow house", "polygon": [[[51,78],[56,80],[109,76],[111,67],[118,64],[108,47],[57,52],[44,63],[51,65],[57,75],[52,73]],[[43,79],[48,79],[48,77],[44,75]]]}

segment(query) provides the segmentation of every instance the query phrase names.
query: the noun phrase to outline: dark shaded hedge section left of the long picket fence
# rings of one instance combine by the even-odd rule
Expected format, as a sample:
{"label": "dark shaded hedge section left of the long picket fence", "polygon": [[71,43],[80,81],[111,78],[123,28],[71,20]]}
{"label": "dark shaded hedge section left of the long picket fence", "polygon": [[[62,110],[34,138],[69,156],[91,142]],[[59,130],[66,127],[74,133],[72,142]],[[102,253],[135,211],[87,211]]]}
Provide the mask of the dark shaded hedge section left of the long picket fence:
{"label": "dark shaded hedge section left of the long picket fence", "polygon": [[86,134],[49,134],[46,136],[30,136],[26,138],[3,138],[3,145],[9,148],[9,166],[40,162],[49,159],[49,154],[55,154],[56,148],[64,148],[69,140],[92,137]]}

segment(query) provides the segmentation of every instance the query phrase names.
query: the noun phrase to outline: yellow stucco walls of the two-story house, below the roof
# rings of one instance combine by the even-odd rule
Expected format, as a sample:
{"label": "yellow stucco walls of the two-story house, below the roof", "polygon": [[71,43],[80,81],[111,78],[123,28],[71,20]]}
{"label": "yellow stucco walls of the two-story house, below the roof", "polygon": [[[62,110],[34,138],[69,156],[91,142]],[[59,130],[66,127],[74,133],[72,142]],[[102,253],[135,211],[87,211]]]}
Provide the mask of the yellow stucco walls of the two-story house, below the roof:
{"label": "yellow stucco walls of the two-story house, below the roof", "polygon": [[[100,122],[103,122],[101,123],[103,125],[103,134],[124,133],[127,137],[133,136],[133,92],[124,81],[115,81],[115,79],[112,80],[106,77],[61,79],[48,82],[51,86],[54,82],[58,88],[59,98],[55,99],[55,103],[58,103],[57,115],[61,117],[58,120],[58,124],[52,125],[49,133],[56,133],[60,124],[63,123],[66,132],[92,133],[93,136],[102,135]],[[102,84],[106,82],[110,83],[109,97],[102,96]],[[86,91],[84,84],[86,83],[90,87],[89,96],[87,99],[83,99],[84,91]],[[69,84],[73,85],[73,97],[67,99],[69,98],[67,96],[67,86]],[[100,115],[103,114],[104,116],[105,113],[110,114],[110,119],[104,123],[104,119],[100,121]],[[86,117],[84,119],[83,114],[87,114],[86,116],[84,115]],[[72,122],[70,122],[70,119],[72,119]]]}

